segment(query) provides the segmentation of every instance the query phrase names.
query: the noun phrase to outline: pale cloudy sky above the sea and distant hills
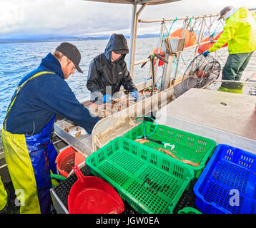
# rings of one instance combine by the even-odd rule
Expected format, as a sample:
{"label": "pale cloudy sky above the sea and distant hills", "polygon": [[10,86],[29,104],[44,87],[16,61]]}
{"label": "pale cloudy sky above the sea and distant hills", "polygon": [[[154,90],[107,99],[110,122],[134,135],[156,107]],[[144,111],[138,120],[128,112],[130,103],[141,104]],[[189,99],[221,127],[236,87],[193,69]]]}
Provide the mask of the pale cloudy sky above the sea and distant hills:
{"label": "pale cloudy sky above the sea and distant hills", "polygon": [[[139,19],[217,14],[223,7],[230,5],[250,9],[256,8],[256,1],[182,0],[146,6]],[[129,4],[82,0],[0,0],[0,9],[0,38],[84,36],[117,31],[129,33],[131,27],[132,5]],[[141,27],[150,33],[154,25],[144,24]]]}

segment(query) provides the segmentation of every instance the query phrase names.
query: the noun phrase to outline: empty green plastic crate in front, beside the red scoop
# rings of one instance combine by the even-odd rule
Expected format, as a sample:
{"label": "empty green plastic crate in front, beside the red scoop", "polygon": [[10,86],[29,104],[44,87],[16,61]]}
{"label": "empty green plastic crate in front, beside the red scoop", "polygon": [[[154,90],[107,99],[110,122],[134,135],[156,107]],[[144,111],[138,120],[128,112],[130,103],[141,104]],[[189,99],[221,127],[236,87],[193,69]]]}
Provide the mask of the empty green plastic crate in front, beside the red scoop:
{"label": "empty green plastic crate in front, beside the red scoop", "polygon": [[86,164],[141,214],[172,213],[194,178],[191,169],[169,156],[122,137],[93,152]]}

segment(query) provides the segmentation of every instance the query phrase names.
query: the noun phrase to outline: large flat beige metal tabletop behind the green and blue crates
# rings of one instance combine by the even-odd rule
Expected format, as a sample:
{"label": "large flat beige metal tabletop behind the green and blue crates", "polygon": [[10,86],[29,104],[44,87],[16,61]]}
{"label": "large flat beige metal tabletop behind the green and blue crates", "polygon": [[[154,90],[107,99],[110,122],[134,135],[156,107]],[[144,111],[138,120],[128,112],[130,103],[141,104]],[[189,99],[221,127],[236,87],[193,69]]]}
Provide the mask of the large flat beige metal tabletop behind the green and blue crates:
{"label": "large flat beige metal tabletop behind the green and blue crates", "polygon": [[156,121],[256,153],[256,96],[188,90],[157,112]]}

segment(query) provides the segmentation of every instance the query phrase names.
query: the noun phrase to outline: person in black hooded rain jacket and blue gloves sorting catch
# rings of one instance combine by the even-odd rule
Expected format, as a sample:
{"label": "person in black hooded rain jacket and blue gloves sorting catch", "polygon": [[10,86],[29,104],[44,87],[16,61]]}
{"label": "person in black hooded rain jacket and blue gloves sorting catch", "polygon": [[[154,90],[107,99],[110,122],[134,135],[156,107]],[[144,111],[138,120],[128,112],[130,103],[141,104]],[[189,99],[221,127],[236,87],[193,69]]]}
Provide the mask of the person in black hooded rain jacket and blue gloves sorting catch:
{"label": "person in black hooded rain jacket and blue gloves sorting catch", "polygon": [[127,70],[125,55],[129,53],[127,40],[122,34],[112,34],[104,53],[96,56],[90,66],[87,88],[91,91],[91,101],[97,103],[111,102],[114,93],[120,87],[131,93],[135,101],[139,98],[137,88]]}

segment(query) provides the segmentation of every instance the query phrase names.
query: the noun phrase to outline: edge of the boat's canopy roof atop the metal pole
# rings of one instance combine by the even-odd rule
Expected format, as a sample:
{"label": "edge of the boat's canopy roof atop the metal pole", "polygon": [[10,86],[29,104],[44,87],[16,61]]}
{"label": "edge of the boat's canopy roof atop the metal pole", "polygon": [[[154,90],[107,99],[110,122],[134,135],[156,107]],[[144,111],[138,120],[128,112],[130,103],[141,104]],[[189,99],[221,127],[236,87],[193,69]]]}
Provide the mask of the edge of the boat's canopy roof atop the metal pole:
{"label": "edge of the boat's canopy roof atop the metal pole", "polygon": [[169,2],[180,1],[180,0],[85,0],[85,1],[99,1],[107,3],[117,3],[117,4],[145,4],[147,5],[158,5],[166,4]]}

